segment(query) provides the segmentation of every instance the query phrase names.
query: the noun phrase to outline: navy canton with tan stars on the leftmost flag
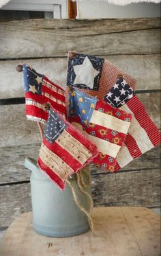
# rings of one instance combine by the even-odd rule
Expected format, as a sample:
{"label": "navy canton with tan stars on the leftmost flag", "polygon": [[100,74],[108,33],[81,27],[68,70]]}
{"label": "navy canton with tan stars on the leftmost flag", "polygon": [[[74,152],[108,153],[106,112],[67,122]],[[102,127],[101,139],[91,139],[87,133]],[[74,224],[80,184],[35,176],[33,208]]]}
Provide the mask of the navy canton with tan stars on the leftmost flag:
{"label": "navy canton with tan stars on the leftmost flag", "polygon": [[25,92],[30,91],[35,94],[42,94],[42,80],[44,75],[37,73],[35,69],[27,65],[23,65],[23,78]]}

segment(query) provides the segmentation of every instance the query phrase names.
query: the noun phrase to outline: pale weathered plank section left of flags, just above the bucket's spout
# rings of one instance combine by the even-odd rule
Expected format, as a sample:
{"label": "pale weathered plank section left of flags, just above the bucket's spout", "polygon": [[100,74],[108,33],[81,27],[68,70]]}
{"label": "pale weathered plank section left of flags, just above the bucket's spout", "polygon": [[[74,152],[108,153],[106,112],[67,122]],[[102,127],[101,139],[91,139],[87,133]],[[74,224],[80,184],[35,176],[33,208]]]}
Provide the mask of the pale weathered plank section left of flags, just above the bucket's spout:
{"label": "pale weathered plank section left of flags, just above the bucket's spout", "polygon": [[25,104],[0,106],[0,123],[1,147],[41,141],[36,122],[25,117]]}

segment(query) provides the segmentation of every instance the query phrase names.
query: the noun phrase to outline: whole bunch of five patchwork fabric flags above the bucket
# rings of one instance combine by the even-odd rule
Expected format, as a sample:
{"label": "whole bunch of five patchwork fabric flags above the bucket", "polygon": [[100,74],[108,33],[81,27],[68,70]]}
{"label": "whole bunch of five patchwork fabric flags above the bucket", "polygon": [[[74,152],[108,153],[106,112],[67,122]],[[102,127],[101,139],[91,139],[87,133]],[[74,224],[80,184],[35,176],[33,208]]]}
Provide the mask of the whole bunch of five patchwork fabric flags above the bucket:
{"label": "whole bunch of five patchwork fabric flags above the bucket", "polygon": [[45,123],[38,165],[60,189],[85,165],[119,169],[158,146],[136,80],[108,60],[68,53],[67,87],[23,65],[25,115]]}

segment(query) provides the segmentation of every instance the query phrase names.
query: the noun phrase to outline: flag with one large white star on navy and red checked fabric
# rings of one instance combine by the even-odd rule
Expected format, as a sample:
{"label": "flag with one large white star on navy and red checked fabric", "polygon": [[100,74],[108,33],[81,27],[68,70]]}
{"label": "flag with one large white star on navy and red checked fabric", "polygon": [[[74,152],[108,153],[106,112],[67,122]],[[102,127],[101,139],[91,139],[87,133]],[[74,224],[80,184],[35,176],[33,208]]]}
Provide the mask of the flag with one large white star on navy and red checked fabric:
{"label": "flag with one large white star on navy and red checked fabric", "polygon": [[74,51],[68,53],[67,85],[77,87],[88,95],[102,99],[120,75],[132,89],[135,88],[136,80],[108,60]]}

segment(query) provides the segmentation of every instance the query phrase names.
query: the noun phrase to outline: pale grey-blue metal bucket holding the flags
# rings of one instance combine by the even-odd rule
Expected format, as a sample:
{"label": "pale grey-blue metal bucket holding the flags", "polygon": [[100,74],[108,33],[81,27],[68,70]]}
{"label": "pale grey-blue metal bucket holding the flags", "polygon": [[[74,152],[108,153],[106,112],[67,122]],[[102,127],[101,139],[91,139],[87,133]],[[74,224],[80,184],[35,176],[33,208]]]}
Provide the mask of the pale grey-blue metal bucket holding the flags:
{"label": "pale grey-blue metal bucket holding the flags", "polygon": [[[50,237],[70,237],[89,230],[88,218],[76,205],[71,187],[61,191],[48,177],[40,172],[33,159],[25,159],[25,167],[31,170],[31,200],[33,209],[33,229]],[[78,201],[89,209],[89,198],[78,187],[76,174],[72,175],[72,185],[76,189]],[[86,188],[91,193],[91,188]]]}

